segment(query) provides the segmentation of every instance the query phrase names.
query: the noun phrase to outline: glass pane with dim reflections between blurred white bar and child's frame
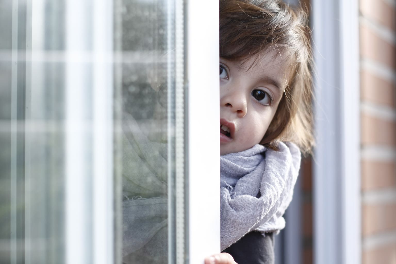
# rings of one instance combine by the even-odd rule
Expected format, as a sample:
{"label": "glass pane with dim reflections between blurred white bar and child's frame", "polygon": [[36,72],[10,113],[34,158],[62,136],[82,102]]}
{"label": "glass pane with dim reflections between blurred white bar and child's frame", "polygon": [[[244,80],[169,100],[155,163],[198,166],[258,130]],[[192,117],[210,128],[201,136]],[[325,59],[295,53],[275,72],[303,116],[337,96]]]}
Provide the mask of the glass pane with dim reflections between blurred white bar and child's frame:
{"label": "glass pane with dim reflections between blurred white bar and child's frame", "polygon": [[116,9],[123,263],[175,263],[174,9],[172,0],[120,0]]}

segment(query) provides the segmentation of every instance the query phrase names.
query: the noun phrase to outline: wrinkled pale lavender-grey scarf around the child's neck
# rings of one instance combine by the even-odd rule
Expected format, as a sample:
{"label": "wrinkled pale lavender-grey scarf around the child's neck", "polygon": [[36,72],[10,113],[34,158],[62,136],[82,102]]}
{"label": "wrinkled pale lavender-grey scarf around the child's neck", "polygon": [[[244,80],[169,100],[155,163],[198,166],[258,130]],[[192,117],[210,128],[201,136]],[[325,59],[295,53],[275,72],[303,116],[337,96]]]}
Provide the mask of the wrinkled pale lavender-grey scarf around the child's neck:
{"label": "wrinkled pale lavender-grey scarf around the child's neck", "polygon": [[221,250],[250,231],[284,228],[300,161],[299,148],[290,142],[220,157]]}

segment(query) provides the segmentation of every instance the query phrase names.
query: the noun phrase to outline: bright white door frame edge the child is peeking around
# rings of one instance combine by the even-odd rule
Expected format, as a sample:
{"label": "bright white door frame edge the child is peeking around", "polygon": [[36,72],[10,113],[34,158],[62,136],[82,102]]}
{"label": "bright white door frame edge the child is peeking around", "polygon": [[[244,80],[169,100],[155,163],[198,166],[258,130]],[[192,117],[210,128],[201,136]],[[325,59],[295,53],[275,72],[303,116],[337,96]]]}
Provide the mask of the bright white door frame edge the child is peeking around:
{"label": "bright white door frame edge the child is peeking around", "polygon": [[190,264],[203,264],[220,251],[219,2],[187,0],[185,17],[188,255]]}

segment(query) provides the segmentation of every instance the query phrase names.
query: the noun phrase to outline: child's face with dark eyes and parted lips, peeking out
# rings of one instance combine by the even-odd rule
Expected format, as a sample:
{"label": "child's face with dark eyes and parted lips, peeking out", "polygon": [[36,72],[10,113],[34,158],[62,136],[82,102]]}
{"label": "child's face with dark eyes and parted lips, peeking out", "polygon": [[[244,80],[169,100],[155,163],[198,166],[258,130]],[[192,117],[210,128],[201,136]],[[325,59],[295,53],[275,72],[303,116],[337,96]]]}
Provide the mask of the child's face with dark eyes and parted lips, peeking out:
{"label": "child's face with dark eyes and parted lips, peeking out", "polygon": [[244,65],[220,58],[220,155],[258,144],[282,98],[290,72],[287,60],[275,50],[259,56],[253,65],[255,57]]}

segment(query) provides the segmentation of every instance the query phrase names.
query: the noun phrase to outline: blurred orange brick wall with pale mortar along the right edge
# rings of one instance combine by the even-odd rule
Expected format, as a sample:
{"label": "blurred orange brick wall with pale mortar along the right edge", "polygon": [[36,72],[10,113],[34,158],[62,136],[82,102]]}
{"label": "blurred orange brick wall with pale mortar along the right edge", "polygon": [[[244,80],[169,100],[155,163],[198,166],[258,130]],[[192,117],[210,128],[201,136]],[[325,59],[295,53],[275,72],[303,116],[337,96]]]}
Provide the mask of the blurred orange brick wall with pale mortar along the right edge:
{"label": "blurred orange brick wall with pale mortar along the right edge", "polygon": [[395,17],[395,1],[360,0],[363,264],[396,264]]}

